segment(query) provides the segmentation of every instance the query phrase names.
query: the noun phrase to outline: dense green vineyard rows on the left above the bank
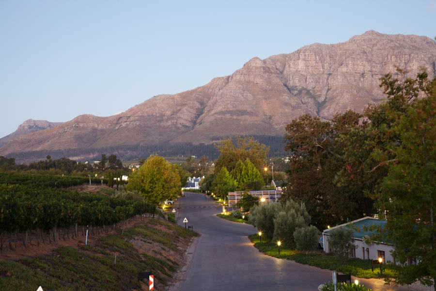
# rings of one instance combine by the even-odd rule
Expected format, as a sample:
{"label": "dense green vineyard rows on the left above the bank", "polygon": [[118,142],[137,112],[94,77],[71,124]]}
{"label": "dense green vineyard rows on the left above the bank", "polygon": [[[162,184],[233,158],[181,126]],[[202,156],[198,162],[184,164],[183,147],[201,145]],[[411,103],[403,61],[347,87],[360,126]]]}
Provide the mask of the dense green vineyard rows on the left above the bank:
{"label": "dense green vineyard rows on the left above the bank", "polygon": [[51,242],[59,240],[60,230],[62,237],[69,238],[70,233],[78,236],[78,226],[82,231],[84,226],[104,229],[156,212],[156,205],[146,202],[58,189],[87,181],[89,178],[0,173],[0,249],[6,241],[11,249],[11,241],[22,241],[27,247],[30,235],[38,244],[46,239]]}

